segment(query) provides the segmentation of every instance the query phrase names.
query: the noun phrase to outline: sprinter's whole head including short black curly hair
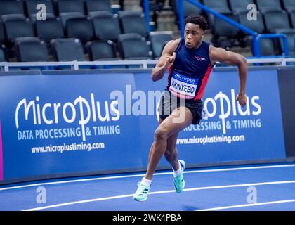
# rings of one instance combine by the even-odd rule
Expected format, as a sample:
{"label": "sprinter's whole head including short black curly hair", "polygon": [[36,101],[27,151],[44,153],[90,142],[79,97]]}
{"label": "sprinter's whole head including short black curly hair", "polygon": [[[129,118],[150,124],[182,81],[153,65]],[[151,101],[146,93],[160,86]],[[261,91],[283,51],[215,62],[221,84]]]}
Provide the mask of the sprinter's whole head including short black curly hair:
{"label": "sprinter's whole head including short black curly hair", "polygon": [[195,49],[202,43],[205,30],[208,23],[202,15],[189,15],[185,18],[185,46],[189,49]]}

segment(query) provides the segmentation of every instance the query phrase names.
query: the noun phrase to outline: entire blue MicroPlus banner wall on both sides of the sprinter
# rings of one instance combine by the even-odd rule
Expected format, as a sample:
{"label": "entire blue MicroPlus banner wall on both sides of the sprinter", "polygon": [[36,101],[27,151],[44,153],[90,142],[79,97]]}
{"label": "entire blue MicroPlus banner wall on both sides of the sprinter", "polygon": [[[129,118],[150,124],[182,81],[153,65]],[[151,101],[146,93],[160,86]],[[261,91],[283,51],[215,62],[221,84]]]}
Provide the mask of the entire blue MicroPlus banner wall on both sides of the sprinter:
{"label": "entire blue MicroPlus banner wall on both sides of the sprinter", "polygon": [[[145,168],[166,84],[150,73],[0,77],[0,179]],[[178,136],[188,165],[285,158],[276,70],[249,71],[245,108],[238,88],[237,72],[211,73],[208,120]]]}

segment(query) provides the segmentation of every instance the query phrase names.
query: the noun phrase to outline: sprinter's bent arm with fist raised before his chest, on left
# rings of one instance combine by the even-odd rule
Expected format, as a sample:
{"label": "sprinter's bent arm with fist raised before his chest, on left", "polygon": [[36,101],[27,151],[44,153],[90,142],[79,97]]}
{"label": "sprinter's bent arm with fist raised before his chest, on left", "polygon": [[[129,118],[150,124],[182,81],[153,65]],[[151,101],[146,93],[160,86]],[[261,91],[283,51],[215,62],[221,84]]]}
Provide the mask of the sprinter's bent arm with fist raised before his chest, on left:
{"label": "sprinter's bent arm with fist raised before his chest, on left", "polygon": [[152,69],[152,80],[156,82],[162,79],[166,70],[174,63],[176,53],[174,52],[179,44],[180,39],[169,41],[162,51],[162,56],[159,58],[157,65]]}

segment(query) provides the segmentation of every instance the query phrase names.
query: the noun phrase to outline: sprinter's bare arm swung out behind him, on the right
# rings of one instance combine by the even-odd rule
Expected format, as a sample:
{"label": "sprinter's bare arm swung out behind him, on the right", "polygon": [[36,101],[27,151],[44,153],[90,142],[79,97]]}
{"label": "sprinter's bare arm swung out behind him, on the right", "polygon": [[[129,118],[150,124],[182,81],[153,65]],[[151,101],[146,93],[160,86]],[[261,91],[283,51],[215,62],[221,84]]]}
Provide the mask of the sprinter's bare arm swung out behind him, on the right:
{"label": "sprinter's bare arm swung out behind him, on the right", "polygon": [[244,56],[226,51],[225,49],[215,48],[210,46],[209,49],[211,64],[214,65],[217,61],[228,65],[237,65],[240,77],[240,91],[237,94],[237,101],[244,106],[247,102],[246,97],[246,80],[247,80],[247,60]]}

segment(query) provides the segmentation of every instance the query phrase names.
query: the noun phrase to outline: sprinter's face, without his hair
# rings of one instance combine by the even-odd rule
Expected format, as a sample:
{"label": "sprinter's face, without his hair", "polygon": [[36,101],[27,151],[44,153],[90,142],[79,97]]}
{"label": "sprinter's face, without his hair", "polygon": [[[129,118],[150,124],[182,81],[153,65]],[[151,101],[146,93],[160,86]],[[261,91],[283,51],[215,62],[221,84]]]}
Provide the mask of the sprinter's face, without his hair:
{"label": "sprinter's face, without his hair", "polygon": [[199,25],[194,23],[187,23],[185,25],[185,46],[188,49],[196,49],[202,43],[204,30]]}

